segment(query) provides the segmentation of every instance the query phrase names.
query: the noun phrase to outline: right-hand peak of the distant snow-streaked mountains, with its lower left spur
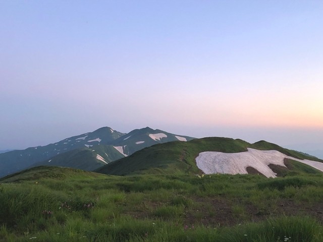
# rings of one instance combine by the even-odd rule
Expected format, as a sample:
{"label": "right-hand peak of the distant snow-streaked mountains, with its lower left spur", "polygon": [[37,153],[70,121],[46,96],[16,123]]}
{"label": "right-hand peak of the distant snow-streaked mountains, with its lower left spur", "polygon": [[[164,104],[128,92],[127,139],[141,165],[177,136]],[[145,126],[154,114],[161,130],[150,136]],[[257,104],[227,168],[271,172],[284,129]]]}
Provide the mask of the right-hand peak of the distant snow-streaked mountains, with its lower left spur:
{"label": "right-hand peak of the distant snow-streaked mountains, with its lower left spur", "polygon": [[84,170],[94,170],[112,161],[127,157],[143,148],[171,141],[190,141],[194,138],[174,135],[149,127],[136,129],[111,141],[109,145],[96,145],[75,149],[59,154],[50,159],[33,164],[74,167]]}

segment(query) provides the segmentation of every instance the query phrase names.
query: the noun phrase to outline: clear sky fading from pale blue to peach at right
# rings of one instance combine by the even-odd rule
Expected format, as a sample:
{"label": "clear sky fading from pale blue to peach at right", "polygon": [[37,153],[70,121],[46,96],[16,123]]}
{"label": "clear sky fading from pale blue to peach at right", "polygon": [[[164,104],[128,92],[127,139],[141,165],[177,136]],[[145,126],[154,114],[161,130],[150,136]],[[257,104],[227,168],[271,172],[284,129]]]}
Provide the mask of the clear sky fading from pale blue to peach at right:
{"label": "clear sky fading from pale blue to peach at right", "polygon": [[104,126],[323,146],[322,26],[322,1],[0,1],[0,150]]}

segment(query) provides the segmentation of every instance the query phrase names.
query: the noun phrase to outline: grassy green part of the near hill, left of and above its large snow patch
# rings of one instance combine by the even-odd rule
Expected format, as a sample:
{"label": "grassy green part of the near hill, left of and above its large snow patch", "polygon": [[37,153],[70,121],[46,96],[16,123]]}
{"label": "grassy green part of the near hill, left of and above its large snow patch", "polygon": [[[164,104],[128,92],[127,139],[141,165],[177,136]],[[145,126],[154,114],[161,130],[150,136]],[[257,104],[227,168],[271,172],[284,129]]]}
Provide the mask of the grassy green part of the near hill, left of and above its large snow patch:
{"label": "grassy green part of the near hill, left of and above its large snow patch", "polygon": [[247,148],[278,150],[295,158],[307,158],[322,161],[265,141],[250,144],[240,139],[234,140],[230,138],[211,137],[195,139],[188,142],[169,142],[154,145],[142,149],[129,157],[104,165],[95,171],[114,175],[136,173],[198,174],[201,171],[196,166],[195,158],[200,152],[219,151],[225,153],[237,153],[247,151]]}

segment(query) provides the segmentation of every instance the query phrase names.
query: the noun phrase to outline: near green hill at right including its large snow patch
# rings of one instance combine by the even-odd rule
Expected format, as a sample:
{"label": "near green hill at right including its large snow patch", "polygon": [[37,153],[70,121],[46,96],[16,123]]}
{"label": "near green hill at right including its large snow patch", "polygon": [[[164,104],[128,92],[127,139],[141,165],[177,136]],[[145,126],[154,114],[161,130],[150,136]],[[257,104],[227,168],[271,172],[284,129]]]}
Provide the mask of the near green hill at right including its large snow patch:
{"label": "near green hill at right including its large snow patch", "polygon": [[95,171],[113,175],[258,173],[275,177],[286,175],[295,167],[298,167],[295,172],[320,172],[321,162],[316,157],[265,141],[250,144],[240,139],[211,137],[153,145]]}

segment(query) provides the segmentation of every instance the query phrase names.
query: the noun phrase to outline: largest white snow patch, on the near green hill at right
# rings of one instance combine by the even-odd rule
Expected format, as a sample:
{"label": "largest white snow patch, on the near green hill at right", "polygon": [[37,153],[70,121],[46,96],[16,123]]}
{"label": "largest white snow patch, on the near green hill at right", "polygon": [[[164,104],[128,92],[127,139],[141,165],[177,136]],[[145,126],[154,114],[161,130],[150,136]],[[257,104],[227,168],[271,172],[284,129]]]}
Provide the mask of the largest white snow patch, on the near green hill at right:
{"label": "largest white snow patch, on the near green hill at right", "polygon": [[277,150],[248,148],[248,151],[240,153],[206,151],[199,153],[195,160],[197,167],[205,174],[247,174],[246,168],[251,166],[266,177],[276,177],[276,173],[268,165],[285,166],[284,158],[296,160],[323,171],[323,163],[321,162],[297,159]]}

